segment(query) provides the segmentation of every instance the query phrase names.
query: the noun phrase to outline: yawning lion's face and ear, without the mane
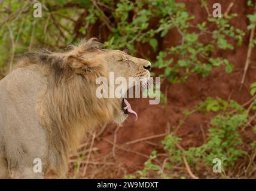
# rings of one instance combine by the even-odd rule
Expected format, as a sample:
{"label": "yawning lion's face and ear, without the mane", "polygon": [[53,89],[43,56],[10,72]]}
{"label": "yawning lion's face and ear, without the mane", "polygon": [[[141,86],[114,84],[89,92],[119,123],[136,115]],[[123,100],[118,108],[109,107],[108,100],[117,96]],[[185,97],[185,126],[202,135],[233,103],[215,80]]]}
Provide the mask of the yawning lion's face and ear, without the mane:
{"label": "yawning lion's face and ear, without the mane", "polygon": [[[91,44],[91,46],[92,44],[95,45],[91,49],[87,48],[86,51],[81,51],[80,47],[83,47],[84,43],[87,46],[88,44]],[[105,50],[102,48],[102,44],[99,44],[95,38],[89,39],[87,42],[82,42],[77,49],[74,48],[74,51],[71,51],[67,58],[68,64],[74,69],[77,75],[82,75],[90,81],[95,82],[99,76],[109,77],[109,73],[114,73],[114,80],[119,77],[126,79],[127,84],[123,84],[123,88],[126,89],[124,92],[126,93],[127,90],[135,86],[135,83],[131,80],[129,81],[129,78],[137,79],[142,83],[147,82],[150,78],[151,63],[149,61],[132,57],[125,51]],[[114,84],[114,90],[118,86],[120,85]],[[123,94],[121,98],[117,98],[115,95],[112,95],[112,97],[118,103],[117,109],[114,110],[112,121],[121,124],[129,115],[136,121],[138,116],[132,110],[126,98],[124,98],[126,95]]]}

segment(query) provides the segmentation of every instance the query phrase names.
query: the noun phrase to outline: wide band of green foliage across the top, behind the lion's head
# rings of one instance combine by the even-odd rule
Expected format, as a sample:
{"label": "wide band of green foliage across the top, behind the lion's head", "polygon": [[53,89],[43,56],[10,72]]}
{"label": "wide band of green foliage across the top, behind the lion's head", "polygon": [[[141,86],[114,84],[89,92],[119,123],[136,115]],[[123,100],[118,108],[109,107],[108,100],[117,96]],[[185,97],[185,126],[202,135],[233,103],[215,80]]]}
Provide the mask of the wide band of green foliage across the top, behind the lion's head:
{"label": "wide band of green foliage across the top, behind the lion's head", "polygon": [[[161,39],[170,30],[176,29],[181,35],[181,44],[160,51],[156,57],[154,67],[163,69],[161,76],[170,82],[178,82],[187,79],[192,73],[209,75],[213,67],[223,65],[227,73],[230,73],[233,64],[223,57],[212,58],[211,53],[216,49],[233,49],[233,45],[227,39],[236,39],[241,44],[244,33],[240,29],[230,26],[229,21],[236,17],[231,14],[224,18],[208,18],[193,26],[194,19],[187,13],[185,4],[175,0],[147,0],[147,1],[42,1],[43,18],[35,19],[32,16],[33,7],[31,2],[12,1],[11,7],[3,2],[1,10],[3,17],[0,29],[0,66],[4,66],[8,56],[24,53],[36,46],[50,48],[62,48],[70,43],[79,41],[79,36],[90,36],[90,28],[100,21],[102,27],[106,27],[107,48],[129,48],[131,54],[136,53],[135,45],[138,43],[151,45],[152,50],[157,52],[159,48],[159,36]],[[86,10],[84,10],[86,7]],[[11,14],[10,14],[11,13]],[[18,14],[16,19],[14,16]],[[83,16],[83,14],[85,16]],[[82,16],[83,17],[82,17]],[[1,19],[3,20],[3,19]],[[77,21],[81,24],[78,25]],[[154,21],[154,26],[152,26]],[[85,23],[85,24],[83,24]],[[210,31],[208,24],[214,24],[215,29]],[[197,32],[188,32],[194,28]],[[211,41],[202,42],[200,38],[211,36]],[[101,38],[101,36],[99,36]],[[6,39],[11,38],[13,44]],[[166,60],[167,55],[178,56],[178,60],[172,58]],[[10,60],[13,64],[13,60]]]}

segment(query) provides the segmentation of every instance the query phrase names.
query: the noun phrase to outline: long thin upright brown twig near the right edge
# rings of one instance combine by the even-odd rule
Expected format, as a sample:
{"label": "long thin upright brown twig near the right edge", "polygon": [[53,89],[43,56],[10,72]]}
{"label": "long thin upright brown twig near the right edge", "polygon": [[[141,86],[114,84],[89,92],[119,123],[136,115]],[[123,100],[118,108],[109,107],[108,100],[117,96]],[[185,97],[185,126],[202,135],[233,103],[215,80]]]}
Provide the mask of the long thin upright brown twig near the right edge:
{"label": "long thin upright brown twig near the right edge", "polygon": [[[256,13],[256,3],[255,3],[255,7],[254,7],[254,14],[255,13]],[[250,40],[249,40],[249,49],[248,49],[248,53],[247,53],[247,57],[246,57],[245,69],[243,70],[243,77],[242,77],[242,81],[241,81],[239,90],[242,90],[243,83],[245,82],[245,76],[246,76],[249,64],[251,62],[250,59],[251,59],[251,54],[252,54],[252,41],[254,40],[254,36],[255,36],[255,26],[251,30]]]}

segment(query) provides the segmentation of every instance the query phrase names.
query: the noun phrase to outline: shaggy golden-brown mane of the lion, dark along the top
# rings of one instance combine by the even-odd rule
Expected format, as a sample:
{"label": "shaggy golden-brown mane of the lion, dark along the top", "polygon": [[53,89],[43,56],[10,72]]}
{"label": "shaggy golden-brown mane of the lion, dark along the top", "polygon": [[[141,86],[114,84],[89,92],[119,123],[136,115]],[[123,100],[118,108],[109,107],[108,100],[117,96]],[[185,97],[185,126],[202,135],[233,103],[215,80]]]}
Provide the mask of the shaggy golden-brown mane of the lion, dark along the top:
{"label": "shaggy golden-brown mane of the lion, dark along the top", "polygon": [[[32,64],[47,79],[44,90],[36,101],[39,122],[45,128],[50,150],[49,165],[57,174],[65,175],[71,150],[76,150],[84,135],[99,124],[110,122],[117,100],[96,97],[96,78],[108,77],[106,64],[98,60],[87,66],[89,72],[78,75],[77,64],[68,64],[68,56],[81,55],[102,49],[96,39],[82,41],[66,52],[39,50],[27,53],[19,61],[19,67]],[[84,72],[84,70],[81,70]]]}

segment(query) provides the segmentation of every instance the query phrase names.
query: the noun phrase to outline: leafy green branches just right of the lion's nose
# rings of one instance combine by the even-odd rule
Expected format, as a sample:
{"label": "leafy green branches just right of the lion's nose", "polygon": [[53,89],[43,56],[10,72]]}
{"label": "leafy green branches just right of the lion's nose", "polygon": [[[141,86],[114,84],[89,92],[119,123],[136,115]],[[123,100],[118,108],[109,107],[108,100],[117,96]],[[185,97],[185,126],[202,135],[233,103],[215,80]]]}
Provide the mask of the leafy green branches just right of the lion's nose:
{"label": "leafy green branches just right of the lion's nose", "polygon": [[[236,16],[236,14],[231,14],[221,19],[209,17],[208,23],[214,23],[216,26],[216,29],[213,31],[209,31],[208,27],[206,27],[206,22],[194,26],[199,31],[197,33],[188,32],[188,29],[191,27],[189,24],[184,26],[175,24],[182,36],[181,44],[171,47],[165,52],[160,52],[159,56],[157,56],[154,66],[160,69],[164,68],[164,73],[161,76],[166,77],[170,82],[179,82],[177,75],[180,72],[182,72],[181,79],[184,81],[192,73],[201,73],[203,76],[208,76],[213,67],[221,65],[225,67],[227,73],[230,73],[233,64],[222,57],[212,58],[211,54],[216,48],[233,50],[233,45],[227,42],[228,38],[236,39],[237,45],[242,44],[242,38],[245,33],[229,24],[229,21]],[[208,43],[200,42],[200,37],[206,35],[211,35],[212,40]],[[173,59],[165,61],[164,58],[167,54],[176,55],[179,58],[175,63],[173,63]]]}

